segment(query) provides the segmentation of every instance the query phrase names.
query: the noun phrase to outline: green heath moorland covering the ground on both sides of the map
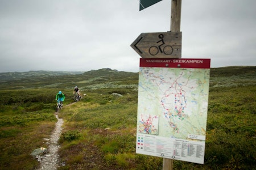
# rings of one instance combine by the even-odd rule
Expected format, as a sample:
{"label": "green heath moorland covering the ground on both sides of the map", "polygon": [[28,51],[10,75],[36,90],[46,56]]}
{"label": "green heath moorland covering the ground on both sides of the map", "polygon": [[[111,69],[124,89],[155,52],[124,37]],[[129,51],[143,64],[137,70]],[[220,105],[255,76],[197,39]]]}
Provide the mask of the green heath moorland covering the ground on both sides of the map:
{"label": "green heath moorland covering the ground on both sides of the map", "polygon": [[[68,105],[74,86],[86,96]],[[162,158],[135,154],[138,73],[26,76],[1,80],[0,89],[0,169],[39,167],[30,153],[48,147],[59,90],[59,169],[162,169]],[[211,69],[205,163],[174,160],[174,169],[254,169],[255,94],[256,67]]]}

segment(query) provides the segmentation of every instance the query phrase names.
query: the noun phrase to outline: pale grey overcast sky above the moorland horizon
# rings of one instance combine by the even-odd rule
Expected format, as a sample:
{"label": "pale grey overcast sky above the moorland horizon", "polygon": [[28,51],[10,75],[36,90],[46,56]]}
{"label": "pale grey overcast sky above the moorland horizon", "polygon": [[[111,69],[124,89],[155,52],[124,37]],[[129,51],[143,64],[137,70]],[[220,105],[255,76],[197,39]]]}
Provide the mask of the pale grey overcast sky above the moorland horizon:
{"label": "pale grey overcast sky above the moorland horizon", "polygon": [[[182,58],[256,66],[255,0],[182,0]],[[170,31],[171,0],[0,0],[0,72],[139,71],[131,43]]]}

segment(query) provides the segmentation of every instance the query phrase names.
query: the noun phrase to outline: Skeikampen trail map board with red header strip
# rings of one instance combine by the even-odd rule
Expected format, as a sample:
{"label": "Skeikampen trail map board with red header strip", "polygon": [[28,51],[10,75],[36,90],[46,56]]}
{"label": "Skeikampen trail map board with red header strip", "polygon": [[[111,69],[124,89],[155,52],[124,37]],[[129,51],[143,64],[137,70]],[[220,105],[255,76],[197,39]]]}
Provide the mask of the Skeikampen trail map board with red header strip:
{"label": "Skeikampen trail map board with red header strip", "polygon": [[210,59],[141,58],[137,154],[204,164]]}

